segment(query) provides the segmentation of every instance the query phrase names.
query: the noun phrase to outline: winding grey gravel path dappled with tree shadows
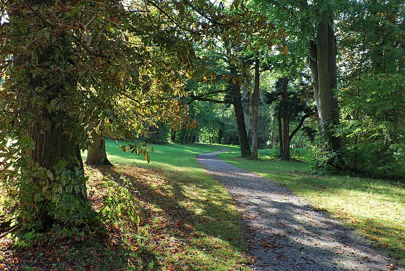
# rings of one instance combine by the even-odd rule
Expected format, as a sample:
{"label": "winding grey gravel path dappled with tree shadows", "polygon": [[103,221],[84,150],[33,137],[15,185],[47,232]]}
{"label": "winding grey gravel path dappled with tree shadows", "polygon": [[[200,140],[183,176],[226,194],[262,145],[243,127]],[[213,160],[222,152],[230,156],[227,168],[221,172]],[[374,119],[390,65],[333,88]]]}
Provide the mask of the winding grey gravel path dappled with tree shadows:
{"label": "winding grey gravel path dappled with tree shadows", "polygon": [[248,253],[257,257],[253,270],[405,271],[290,191],[220,161],[215,155],[226,150],[221,149],[196,159],[237,202],[248,229]]}

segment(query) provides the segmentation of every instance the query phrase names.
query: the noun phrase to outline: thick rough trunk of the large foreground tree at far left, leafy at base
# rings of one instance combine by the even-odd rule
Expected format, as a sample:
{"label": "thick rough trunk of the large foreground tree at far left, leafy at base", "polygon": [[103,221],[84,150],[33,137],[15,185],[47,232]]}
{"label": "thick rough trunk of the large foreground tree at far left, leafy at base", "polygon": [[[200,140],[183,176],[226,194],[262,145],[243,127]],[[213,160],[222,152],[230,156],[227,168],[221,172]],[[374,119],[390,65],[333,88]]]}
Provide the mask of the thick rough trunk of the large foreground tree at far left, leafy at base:
{"label": "thick rough trunk of the large foreground tree at far left, leafy at base", "polygon": [[[42,3],[27,1],[34,9]],[[10,22],[18,22],[26,12],[9,14]],[[39,21],[36,27],[42,30],[45,26]],[[24,37],[27,35],[23,31],[18,33]],[[16,36],[16,40],[18,38]],[[35,230],[47,231],[54,224],[63,226],[69,223],[77,227],[83,222],[74,219],[67,222],[67,219],[85,214],[86,208],[90,210],[78,140],[69,132],[77,120],[71,118],[63,107],[55,107],[55,101],[69,97],[76,87],[74,74],[58,69],[61,67],[58,65],[69,62],[69,56],[77,49],[72,48],[63,32],[52,42],[37,44],[37,47],[35,42],[31,45],[29,55],[16,52],[14,56],[14,68],[20,70],[26,79],[15,86],[16,91],[18,96],[29,101],[28,105],[19,108],[21,123],[29,124],[20,127],[25,137],[20,142],[21,157],[25,160],[18,195],[21,215]],[[42,71],[37,72],[38,69]],[[58,73],[53,73],[53,70],[58,70]],[[61,172],[71,176],[61,176]],[[64,206],[68,201],[74,208]]]}

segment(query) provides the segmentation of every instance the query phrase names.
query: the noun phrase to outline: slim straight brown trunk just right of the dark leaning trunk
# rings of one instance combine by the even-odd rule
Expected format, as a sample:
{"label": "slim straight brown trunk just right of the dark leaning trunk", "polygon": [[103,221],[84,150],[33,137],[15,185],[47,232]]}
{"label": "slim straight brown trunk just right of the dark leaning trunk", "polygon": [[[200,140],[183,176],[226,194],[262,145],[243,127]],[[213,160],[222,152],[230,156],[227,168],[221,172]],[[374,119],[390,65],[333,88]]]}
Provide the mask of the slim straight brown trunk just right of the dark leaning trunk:
{"label": "slim straight brown trunk just right of the dark leaning trunk", "polygon": [[252,149],[253,149],[253,160],[258,160],[258,126],[259,126],[259,59],[256,58],[255,62],[255,90],[252,96]]}

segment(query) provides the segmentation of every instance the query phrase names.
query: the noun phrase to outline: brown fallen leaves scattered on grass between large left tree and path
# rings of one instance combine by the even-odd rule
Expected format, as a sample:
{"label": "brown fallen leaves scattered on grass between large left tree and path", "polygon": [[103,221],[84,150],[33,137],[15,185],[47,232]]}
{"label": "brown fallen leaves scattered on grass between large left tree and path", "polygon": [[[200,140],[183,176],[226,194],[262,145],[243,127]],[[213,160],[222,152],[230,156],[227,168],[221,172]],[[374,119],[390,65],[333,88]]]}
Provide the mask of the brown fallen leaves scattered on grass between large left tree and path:
{"label": "brown fallen leaves scattered on grass between large left tree and path", "polygon": [[[231,244],[241,239],[238,233],[232,238],[235,240],[217,233],[221,231],[215,224],[218,222],[230,227],[228,231],[236,231],[227,221],[230,218],[222,218],[222,214],[217,213],[215,215],[219,217],[214,219],[204,209],[199,214],[192,210],[195,206],[215,205],[211,198],[189,198],[184,192],[183,182],[186,181],[168,177],[164,170],[131,165],[86,166],[85,169],[90,177],[89,201],[95,209],[103,202],[106,180],[121,184],[123,177],[130,179],[128,190],[137,200],[134,204],[141,217],[138,228],[132,229],[126,227],[125,221],[117,221],[114,225],[106,225],[104,234],[59,236],[54,242],[30,248],[15,248],[13,242],[4,238],[0,240],[0,270],[26,267],[32,270],[125,270],[129,267],[141,270],[242,270],[252,262],[237,252],[240,248]],[[208,191],[208,188],[201,189]],[[228,204],[234,206],[232,200]],[[227,212],[226,208],[221,211]]]}

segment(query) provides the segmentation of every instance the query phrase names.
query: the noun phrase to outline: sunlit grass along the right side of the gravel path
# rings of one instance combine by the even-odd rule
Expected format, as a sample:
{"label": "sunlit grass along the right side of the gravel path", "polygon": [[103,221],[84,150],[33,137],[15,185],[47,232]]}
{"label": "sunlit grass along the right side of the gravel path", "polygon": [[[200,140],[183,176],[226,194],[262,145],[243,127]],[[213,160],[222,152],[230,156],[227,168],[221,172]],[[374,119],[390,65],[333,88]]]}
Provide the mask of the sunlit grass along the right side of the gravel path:
{"label": "sunlit grass along the right side of the gravel path", "polygon": [[[350,176],[306,174],[308,164],[238,158],[239,148],[217,155],[239,168],[263,176],[306,198],[365,235],[405,265],[405,183]],[[260,159],[260,156],[259,156]]]}

